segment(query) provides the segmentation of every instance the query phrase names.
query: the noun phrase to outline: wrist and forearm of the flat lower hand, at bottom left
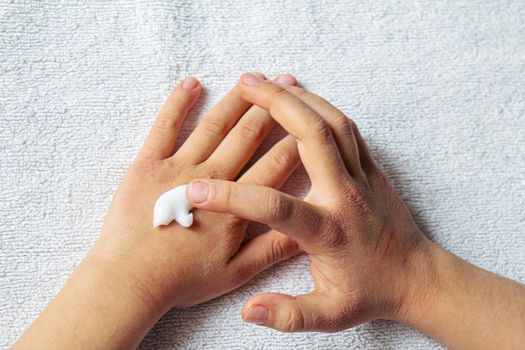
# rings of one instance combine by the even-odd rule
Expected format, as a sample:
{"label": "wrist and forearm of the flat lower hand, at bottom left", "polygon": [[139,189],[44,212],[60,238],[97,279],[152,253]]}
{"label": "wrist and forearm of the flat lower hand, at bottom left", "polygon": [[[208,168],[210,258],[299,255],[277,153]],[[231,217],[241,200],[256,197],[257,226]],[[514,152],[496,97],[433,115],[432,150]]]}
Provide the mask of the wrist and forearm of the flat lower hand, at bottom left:
{"label": "wrist and forearm of the flat lower hand, at bottom left", "polygon": [[15,348],[136,348],[163,310],[115,271],[88,255]]}

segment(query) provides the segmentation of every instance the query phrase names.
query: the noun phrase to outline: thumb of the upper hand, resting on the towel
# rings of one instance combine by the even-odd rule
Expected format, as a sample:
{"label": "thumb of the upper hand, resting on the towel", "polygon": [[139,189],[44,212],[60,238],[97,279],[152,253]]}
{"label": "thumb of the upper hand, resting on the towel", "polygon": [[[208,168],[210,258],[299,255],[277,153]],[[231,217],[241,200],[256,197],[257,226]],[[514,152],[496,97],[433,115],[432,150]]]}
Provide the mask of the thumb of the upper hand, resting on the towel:
{"label": "thumb of the upper hand, resting on the towel", "polygon": [[286,294],[261,294],[250,299],[242,309],[244,321],[281,332],[336,331],[330,322],[333,307],[318,292],[292,297]]}

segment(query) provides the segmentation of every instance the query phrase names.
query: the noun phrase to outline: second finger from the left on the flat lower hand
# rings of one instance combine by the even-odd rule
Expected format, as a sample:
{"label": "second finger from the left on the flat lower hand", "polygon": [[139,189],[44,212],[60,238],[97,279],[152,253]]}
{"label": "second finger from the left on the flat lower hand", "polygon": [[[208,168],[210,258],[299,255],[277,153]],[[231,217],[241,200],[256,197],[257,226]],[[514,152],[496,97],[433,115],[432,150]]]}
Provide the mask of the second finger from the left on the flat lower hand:
{"label": "second finger from the left on the flat lower hand", "polygon": [[[264,75],[257,74],[261,79],[266,79]],[[250,102],[242,98],[236,85],[197,125],[186,142],[180,147],[176,157],[184,158],[193,164],[208,159],[251,105]]]}

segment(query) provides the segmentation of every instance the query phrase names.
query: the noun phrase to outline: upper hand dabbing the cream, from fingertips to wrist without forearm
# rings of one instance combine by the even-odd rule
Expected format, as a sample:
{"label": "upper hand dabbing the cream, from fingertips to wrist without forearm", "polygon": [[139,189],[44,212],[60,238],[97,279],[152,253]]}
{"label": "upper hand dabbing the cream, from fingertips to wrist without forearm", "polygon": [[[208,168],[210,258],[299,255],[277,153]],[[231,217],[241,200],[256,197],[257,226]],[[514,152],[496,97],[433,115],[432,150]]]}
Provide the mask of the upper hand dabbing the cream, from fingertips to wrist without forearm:
{"label": "upper hand dabbing the cream, from fingertips to wrist without forearm", "polygon": [[312,188],[300,200],[269,187],[202,179],[191,183],[188,197],[197,208],[229,212],[294,238],[311,256],[315,285],[297,297],[258,295],[245,304],[243,318],[280,331],[331,332],[400,318],[419,300],[424,304],[436,285],[429,258],[433,243],[355,124],[298,87],[248,73],[239,89],[295,137]]}

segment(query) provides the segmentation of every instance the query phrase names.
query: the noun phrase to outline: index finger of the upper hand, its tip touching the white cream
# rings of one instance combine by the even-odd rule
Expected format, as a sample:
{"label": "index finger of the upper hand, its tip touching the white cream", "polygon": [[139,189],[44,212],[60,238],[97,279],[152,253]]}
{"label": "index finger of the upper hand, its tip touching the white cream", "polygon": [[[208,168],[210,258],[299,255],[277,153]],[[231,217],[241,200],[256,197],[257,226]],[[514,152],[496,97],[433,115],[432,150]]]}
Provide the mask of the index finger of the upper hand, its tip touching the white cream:
{"label": "index finger of the upper hand, its tip touching the white cream", "polygon": [[231,213],[270,226],[299,244],[313,247],[326,213],[308,202],[272,188],[223,180],[194,180],[186,196],[196,208]]}

